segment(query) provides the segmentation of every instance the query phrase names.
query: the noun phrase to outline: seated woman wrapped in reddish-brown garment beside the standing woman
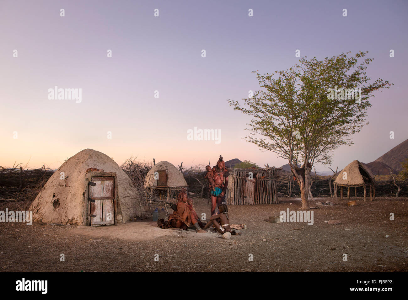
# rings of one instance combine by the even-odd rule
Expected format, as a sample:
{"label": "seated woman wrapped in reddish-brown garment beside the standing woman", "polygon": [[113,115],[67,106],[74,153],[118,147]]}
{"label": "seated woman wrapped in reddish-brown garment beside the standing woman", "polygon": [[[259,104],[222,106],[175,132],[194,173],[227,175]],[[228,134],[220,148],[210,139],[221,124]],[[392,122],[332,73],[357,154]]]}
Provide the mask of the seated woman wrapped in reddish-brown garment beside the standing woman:
{"label": "seated woman wrapped in reddish-brown garment beside the standing woman", "polygon": [[191,210],[187,203],[186,189],[183,188],[177,196],[177,209],[169,216],[169,220],[164,222],[163,219],[157,220],[157,226],[163,229],[167,228],[179,228],[187,230],[190,224],[194,224],[194,227],[199,233],[206,233],[206,231],[200,228],[198,220],[195,216],[191,215]]}

